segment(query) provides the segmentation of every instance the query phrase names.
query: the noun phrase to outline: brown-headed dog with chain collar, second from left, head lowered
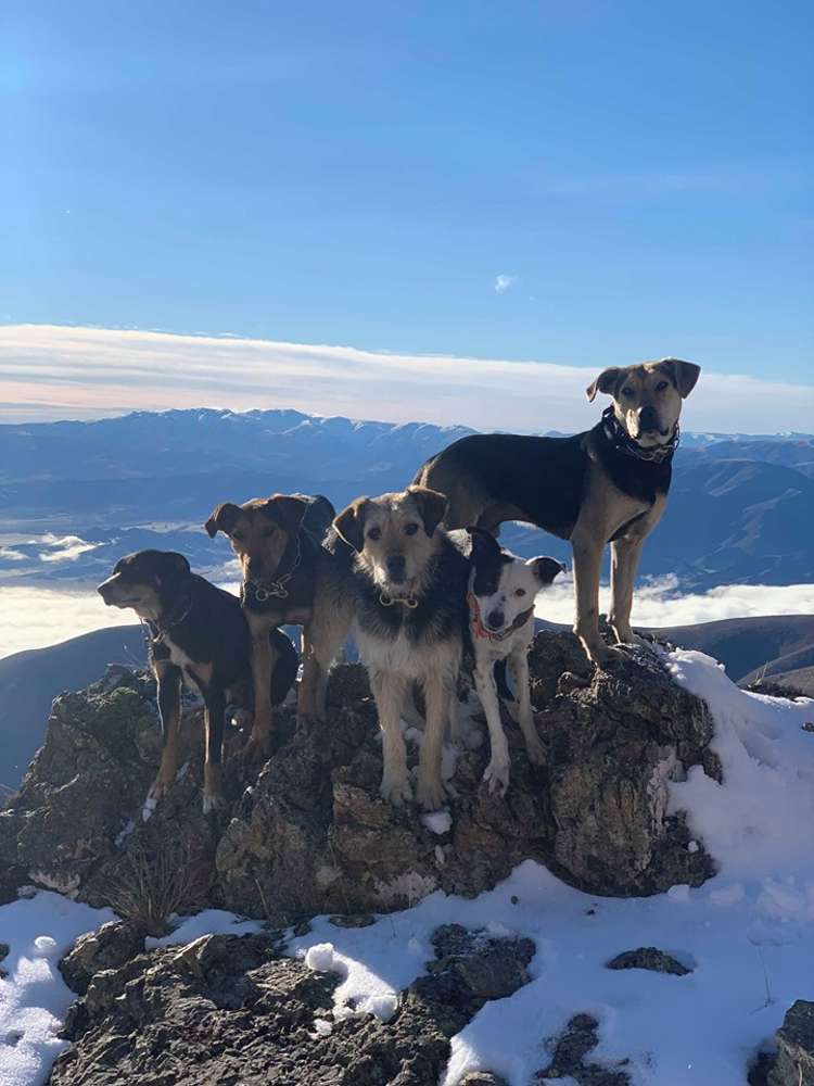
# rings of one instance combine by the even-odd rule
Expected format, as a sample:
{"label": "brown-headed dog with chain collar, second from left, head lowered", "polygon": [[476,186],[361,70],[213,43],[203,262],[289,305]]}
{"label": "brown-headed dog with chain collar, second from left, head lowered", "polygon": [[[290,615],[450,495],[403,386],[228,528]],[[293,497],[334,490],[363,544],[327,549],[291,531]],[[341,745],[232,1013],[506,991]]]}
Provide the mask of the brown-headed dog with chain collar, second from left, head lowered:
{"label": "brown-headed dog with chain collar, second from left, head lowered", "polygon": [[242,505],[218,505],[205,523],[209,538],[224,532],[243,572],[241,602],[252,634],[254,725],[247,755],[267,752],[268,699],[275,668],[269,631],[303,627],[303,678],[297,711],[321,717],[328,668],[351,623],[351,605],[336,584],[336,557],[321,544],[334,517],[328,498],[274,494]]}

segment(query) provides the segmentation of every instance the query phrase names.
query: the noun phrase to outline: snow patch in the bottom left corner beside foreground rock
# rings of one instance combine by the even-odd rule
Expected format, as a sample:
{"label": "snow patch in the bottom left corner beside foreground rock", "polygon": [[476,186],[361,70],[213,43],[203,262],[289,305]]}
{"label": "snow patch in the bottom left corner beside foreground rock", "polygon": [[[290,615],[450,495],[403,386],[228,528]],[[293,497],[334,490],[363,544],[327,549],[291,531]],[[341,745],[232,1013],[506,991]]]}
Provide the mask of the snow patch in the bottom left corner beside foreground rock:
{"label": "snow patch in the bottom left corner beside foreground rock", "polygon": [[50,891],[0,906],[0,935],[9,944],[0,980],[0,1083],[39,1086],[67,1047],[56,1036],[74,994],[56,964],[77,936],[113,920]]}

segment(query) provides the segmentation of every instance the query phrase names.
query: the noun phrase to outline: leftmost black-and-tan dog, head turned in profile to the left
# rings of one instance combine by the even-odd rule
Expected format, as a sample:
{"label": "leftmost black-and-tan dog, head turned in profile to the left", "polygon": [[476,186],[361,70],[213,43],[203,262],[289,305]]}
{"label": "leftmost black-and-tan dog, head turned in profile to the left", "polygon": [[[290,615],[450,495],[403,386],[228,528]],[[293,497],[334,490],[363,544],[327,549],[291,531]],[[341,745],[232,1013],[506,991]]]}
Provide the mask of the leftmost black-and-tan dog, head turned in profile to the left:
{"label": "leftmost black-and-tan dog, head turned in profile to the left", "polygon": [[[251,705],[251,639],[240,602],[193,573],[183,555],[173,551],[139,551],[119,559],[98,591],[109,606],[132,608],[150,634],[163,750],[158,775],[144,805],[145,817],[175,780],[183,681],[204,700],[203,808],[204,812],[213,810],[222,801],[227,699],[247,699]],[[285,634],[274,630],[270,637],[276,666],[266,696],[279,705],[296,679],[298,659]]]}

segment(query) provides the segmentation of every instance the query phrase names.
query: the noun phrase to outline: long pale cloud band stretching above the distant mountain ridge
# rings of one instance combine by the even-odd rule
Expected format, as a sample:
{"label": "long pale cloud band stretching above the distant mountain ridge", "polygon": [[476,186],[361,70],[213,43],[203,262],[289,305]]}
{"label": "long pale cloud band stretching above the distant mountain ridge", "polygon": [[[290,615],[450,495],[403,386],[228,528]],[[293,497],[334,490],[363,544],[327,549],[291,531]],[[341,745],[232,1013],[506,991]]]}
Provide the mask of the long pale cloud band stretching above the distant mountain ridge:
{"label": "long pale cloud band stretching above the distant mountain ridge", "polygon": [[[665,344],[665,351],[677,346]],[[171,407],[296,407],[386,421],[572,431],[605,365],[403,355],[345,346],[50,325],[0,327],[0,421]],[[692,430],[809,430],[814,387],[714,372],[685,413]]]}

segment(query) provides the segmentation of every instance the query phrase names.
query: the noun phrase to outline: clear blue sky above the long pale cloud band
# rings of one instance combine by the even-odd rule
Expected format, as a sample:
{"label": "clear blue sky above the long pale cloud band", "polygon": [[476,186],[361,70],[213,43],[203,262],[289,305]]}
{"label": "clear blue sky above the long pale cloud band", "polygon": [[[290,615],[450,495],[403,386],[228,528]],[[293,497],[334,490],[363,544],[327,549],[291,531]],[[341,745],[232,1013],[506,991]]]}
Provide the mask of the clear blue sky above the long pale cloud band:
{"label": "clear blue sky above the long pale cloud band", "polygon": [[0,20],[7,324],[814,383],[809,4]]}

